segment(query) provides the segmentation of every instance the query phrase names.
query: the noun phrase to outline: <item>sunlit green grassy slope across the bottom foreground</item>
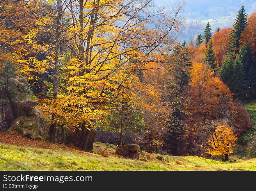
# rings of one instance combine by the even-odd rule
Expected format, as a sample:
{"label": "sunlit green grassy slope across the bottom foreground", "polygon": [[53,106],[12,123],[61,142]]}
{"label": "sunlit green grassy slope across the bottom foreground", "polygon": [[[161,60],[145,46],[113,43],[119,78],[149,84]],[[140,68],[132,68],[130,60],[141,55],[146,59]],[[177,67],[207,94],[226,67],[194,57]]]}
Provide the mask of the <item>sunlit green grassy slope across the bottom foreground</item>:
{"label": "sunlit green grassy slope across the bottom foreground", "polygon": [[[99,153],[106,150],[109,157]],[[93,153],[37,149],[0,144],[0,170],[256,170],[256,159],[232,158],[229,162],[197,156],[163,156],[142,152],[140,160],[118,158],[115,146],[96,142]]]}

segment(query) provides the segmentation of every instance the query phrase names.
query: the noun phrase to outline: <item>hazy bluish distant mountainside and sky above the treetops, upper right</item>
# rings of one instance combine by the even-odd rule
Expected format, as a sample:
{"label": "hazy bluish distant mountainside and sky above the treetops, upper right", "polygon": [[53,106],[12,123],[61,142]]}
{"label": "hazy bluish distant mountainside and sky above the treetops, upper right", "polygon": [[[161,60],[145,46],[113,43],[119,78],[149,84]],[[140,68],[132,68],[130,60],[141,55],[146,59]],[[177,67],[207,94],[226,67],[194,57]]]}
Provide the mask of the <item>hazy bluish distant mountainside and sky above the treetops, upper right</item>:
{"label": "hazy bluish distant mountainside and sky above the treetops, upper right", "polygon": [[[159,6],[170,6],[177,0],[153,0]],[[256,10],[256,0],[186,0],[183,8],[185,24],[178,40],[187,42],[203,33],[207,22],[211,24],[212,33],[219,27],[231,27],[237,11],[244,5],[250,15]]]}

